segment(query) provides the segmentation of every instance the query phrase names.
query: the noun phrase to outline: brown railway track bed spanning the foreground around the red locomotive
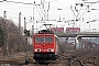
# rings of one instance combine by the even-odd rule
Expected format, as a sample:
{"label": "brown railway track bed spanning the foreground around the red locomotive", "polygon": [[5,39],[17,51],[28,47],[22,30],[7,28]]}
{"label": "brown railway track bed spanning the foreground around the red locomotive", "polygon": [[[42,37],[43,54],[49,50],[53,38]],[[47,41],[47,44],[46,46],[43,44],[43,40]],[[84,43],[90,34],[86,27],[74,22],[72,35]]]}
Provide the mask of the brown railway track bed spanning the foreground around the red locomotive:
{"label": "brown railway track bed spanning the foreground around the red locomotive", "polygon": [[[89,59],[95,56],[99,56],[99,48],[96,50],[87,50],[87,51],[79,51],[79,52],[68,52],[62,53],[59,57],[48,64],[38,64],[35,63],[33,56],[29,56],[30,63],[29,65],[24,64],[24,56],[20,57],[8,57],[7,59],[1,59],[0,64],[10,64],[10,66],[19,65],[19,66],[85,66]],[[94,59],[92,64],[94,64]]]}

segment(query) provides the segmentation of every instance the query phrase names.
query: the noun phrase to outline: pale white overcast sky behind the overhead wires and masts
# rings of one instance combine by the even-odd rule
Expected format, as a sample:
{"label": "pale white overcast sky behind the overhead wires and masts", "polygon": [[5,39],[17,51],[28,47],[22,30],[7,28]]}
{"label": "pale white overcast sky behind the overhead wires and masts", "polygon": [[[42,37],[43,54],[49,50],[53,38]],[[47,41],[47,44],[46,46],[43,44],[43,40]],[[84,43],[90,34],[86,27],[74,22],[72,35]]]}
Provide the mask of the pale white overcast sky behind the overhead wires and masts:
{"label": "pale white overcast sky behind the overhead wires and masts", "polygon": [[[1,0],[0,0],[1,1]],[[41,4],[41,0],[8,0],[8,1],[14,1],[14,2],[24,2],[24,3],[33,3],[35,1],[35,4]],[[43,1],[43,0],[42,0]],[[88,0],[88,1],[98,1],[98,0]],[[50,10],[48,10],[48,19],[50,20],[75,20],[75,15],[73,10],[75,11],[75,3],[82,3],[82,2],[88,2],[88,1],[81,1],[81,0],[44,0],[44,9],[47,10],[48,9],[48,3],[50,2]],[[88,3],[85,3],[88,4]],[[22,22],[23,22],[23,18],[26,16],[26,21],[30,22],[30,16],[33,16],[33,7],[34,7],[34,18],[35,21],[40,21],[41,16],[44,16],[42,11],[40,10],[40,8],[36,6],[32,6],[32,4],[21,4],[21,3],[11,3],[11,2],[0,2],[0,16],[3,16],[3,11],[7,11],[7,18],[10,20],[13,20],[15,24],[18,24],[18,16],[19,16],[19,12],[22,13]],[[41,7],[43,8],[43,7]],[[85,11],[86,7],[82,7],[80,14],[78,18],[80,18],[80,15],[82,14],[82,12]],[[57,9],[63,9],[63,10],[57,10]],[[77,9],[79,10],[79,6],[77,6]],[[99,9],[99,3],[95,3],[90,7],[90,9]],[[77,12],[75,11],[75,14],[77,14]],[[98,20],[99,18],[99,13],[98,10],[92,10],[90,11],[90,13],[86,12],[84,15],[84,21],[89,21],[89,20]],[[36,22],[35,22],[36,23]],[[55,26],[73,26],[73,22],[72,23],[56,23],[55,21],[48,21],[48,23],[53,23]],[[41,28],[42,23],[37,23],[35,26],[38,29]],[[80,26],[84,31],[86,31],[87,29],[99,29],[98,25],[98,21],[97,22],[91,22],[91,23],[86,23],[82,22],[82,20],[80,20],[79,22],[75,23],[75,26]],[[28,29],[31,29],[30,23],[28,23]],[[23,23],[22,23],[23,26]]]}

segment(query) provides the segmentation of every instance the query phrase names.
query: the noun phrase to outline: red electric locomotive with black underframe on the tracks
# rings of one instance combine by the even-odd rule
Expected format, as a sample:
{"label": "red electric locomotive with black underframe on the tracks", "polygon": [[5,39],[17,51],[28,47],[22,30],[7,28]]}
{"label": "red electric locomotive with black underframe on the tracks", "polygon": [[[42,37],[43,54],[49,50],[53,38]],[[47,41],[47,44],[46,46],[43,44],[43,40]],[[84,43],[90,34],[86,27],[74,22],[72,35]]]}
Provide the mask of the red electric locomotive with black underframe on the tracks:
{"label": "red electric locomotive with black underframe on the tracks", "polygon": [[38,31],[33,36],[33,58],[35,61],[54,61],[58,54],[58,38],[51,30]]}

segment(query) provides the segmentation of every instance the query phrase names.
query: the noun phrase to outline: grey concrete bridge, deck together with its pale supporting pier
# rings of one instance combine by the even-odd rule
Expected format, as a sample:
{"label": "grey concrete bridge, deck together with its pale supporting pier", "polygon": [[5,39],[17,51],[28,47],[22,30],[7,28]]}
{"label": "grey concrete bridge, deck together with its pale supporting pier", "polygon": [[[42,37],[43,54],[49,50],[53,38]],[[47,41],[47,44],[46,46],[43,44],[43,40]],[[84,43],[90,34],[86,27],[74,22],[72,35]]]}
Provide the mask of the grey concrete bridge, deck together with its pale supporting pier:
{"label": "grey concrete bridge, deck together with its pale supporting pier", "polygon": [[75,37],[76,48],[82,48],[81,37],[99,37],[99,32],[55,33],[58,37]]}

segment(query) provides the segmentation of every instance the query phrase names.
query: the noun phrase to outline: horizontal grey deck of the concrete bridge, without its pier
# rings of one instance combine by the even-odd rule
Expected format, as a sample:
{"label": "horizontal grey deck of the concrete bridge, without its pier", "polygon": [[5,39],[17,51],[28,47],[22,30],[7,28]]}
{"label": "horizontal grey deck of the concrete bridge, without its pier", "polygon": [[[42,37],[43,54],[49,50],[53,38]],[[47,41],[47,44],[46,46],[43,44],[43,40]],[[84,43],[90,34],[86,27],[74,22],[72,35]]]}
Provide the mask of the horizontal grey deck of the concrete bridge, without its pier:
{"label": "horizontal grey deck of the concrete bridge, without its pier", "polygon": [[55,33],[58,37],[99,37],[99,32]]}

